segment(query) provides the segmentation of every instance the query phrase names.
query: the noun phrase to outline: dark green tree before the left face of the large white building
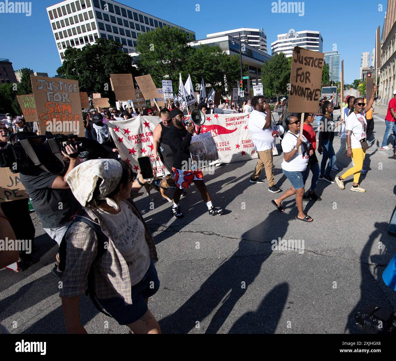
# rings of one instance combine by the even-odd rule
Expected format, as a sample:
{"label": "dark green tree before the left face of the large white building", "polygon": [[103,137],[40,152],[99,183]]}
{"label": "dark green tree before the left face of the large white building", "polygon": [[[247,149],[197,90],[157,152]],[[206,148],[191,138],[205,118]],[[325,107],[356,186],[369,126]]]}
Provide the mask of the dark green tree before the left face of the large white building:
{"label": "dark green tree before the left face of the large white building", "polygon": [[116,99],[111,90],[109,74],[136,75],[132,59],[122,51],[122,45],[114,40],[101,38],[95,44],[87,44],[82,49],[68,47],[65,60],[57,72],[61,78],[78,80],[80,91],[88,94],[101,93],[113,105]]}

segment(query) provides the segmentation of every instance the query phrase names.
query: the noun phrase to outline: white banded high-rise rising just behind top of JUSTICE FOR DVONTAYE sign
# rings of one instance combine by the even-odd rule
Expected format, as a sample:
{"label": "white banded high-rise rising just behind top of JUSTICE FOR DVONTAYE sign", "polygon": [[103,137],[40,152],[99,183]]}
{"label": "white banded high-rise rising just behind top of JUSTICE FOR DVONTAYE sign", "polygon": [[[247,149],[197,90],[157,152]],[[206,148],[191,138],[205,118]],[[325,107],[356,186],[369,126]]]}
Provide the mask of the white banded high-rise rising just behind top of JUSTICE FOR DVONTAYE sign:
{"label": "white banded high-rise rising just behind top of JUSTICE FOR DVONTAYE sign", "polygon": [[295,46],[322,53],[323,37],[319,31],[295,31],[294,29],[290,29],[286,34],[278,34],[278,40],[271,43],[272,56],[284,53],[286,57],[291,57]]}

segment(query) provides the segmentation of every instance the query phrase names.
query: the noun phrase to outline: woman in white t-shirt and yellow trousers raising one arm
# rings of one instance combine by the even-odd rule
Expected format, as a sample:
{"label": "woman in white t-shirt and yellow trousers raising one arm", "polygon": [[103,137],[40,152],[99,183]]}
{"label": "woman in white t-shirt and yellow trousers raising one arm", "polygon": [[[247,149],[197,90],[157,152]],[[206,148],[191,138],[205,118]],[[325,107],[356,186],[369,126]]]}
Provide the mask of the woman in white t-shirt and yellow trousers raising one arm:
{"label": "woman in white t-shirt and yellow trousers raising one arm", "polygon": [[346,118],[345,132],[346,132],[346,155],[353,160],[354,166],[349,168],[340,177],[335,177],[335,181],[341,189],[345,189],[344,180],[350,175],[353,176],[353,184],[350,190],[354,192],[364,193],[366,190],[359,186],[360,171],[363,167],[366,150],[362,148],[362,142],[366,141],[366,111],[371,108],[374,103],[374,94],[377,91],[377,86],[373,88],[373,95],[367,102],[364,103],[363,98],[356,98],[353,102],[353,109],[350,110],[348,118]]}

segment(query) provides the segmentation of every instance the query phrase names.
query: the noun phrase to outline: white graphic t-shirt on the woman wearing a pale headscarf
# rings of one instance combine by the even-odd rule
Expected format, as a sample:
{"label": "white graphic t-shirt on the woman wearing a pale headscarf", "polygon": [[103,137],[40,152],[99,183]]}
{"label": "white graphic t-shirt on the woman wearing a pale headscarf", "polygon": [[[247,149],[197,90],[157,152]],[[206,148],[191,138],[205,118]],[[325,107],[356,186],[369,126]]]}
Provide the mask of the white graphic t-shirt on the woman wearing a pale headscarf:
{"label": "white graphic t-shirt on the woman wearing a pale headscarf", "polygon": [[111,214],[99,209],[99,213],[109,226],[112,241],[124,257],[129,268],[131,286],[141,281],[150,266],[150,252],[145,239],[145,227],[126,203],[120,203],[121,211]]}

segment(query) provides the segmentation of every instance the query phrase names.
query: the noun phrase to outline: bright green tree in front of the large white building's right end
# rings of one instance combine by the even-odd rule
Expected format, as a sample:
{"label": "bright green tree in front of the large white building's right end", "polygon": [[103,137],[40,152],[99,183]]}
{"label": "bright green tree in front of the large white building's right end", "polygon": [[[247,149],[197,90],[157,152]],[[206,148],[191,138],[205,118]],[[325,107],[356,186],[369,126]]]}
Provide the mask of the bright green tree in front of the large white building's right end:
{"label": "bright green tree in front of the large white building's right end", "polygon": [[136,64],[139,71],[142,74],[151,74],[157,87],[162,86],[165,77],[172,80],[174,88],[177,87],[179,72],[183,80],[188,77],[189,69],[186,65],[195,50],[187,45],[190,41],[193,39],[189,34],[169,26],[139,34],[136,44],[136,51],[139,53]]}

